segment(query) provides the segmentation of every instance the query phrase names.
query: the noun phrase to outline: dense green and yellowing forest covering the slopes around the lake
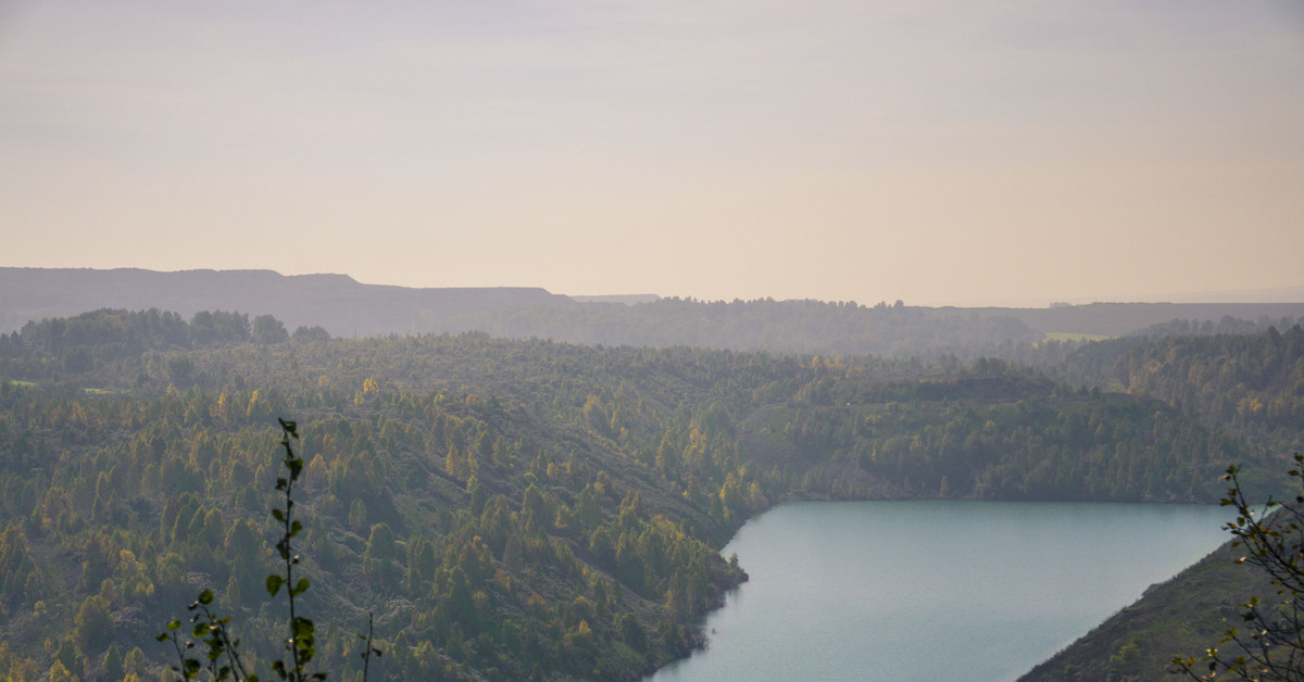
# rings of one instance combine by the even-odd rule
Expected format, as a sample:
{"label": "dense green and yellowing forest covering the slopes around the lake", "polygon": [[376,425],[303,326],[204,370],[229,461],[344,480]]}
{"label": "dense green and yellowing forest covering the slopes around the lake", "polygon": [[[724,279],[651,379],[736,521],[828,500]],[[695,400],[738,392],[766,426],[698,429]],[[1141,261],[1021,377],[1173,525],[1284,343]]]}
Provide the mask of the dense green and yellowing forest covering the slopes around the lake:
{"label": "dense green and yellowing forest covering the slopes around the lake", "polygon": [[[231,312],[29,323],[0,335],[0,675],[158,678],[154,634],[203,588],[266,669],[278,417],[331,678],[360,678],[370,612],[373,678],[636,679],[700,643],[746,579],[719,548],[777,502],[1214,502],[1230,462],[1270,485],[1301,336],[1093,343],[1055,374]],[[1185,398],[1206,390],[1262,407]]]}

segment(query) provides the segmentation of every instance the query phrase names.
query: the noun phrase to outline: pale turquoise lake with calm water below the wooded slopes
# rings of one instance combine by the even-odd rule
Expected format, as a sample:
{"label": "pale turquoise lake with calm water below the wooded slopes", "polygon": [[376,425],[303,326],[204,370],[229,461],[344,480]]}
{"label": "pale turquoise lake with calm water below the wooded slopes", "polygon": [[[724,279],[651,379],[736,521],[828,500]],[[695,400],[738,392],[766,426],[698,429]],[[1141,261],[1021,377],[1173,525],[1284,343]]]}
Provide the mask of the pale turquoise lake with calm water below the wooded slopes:
{"label": "pale turquoise lake with calm water below the wooded slopes", "polygon": [[[1011,681],[1224,540],[1227,509],[802,502],[752,519],[704,651],[645,682]],[[1178,652],[1174,652],[1178,653]]]}

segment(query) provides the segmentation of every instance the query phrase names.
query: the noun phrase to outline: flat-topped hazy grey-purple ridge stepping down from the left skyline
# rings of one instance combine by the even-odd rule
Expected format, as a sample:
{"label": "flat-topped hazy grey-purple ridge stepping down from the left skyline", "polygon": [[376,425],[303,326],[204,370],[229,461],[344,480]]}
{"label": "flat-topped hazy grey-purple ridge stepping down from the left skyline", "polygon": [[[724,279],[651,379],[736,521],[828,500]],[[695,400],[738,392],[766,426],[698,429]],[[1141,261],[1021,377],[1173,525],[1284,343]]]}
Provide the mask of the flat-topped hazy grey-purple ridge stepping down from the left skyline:
{"label": "flat-topped hazy grey-purple ridge stepping down from the left skyline", "polygon": [[99,308],[158,308],[186,318],[200,310],[270,313],[291,330],[321,325],[335,336],[372,336],[443,330],[506,305],[567,300],[542,288],[407,288],[271,270],[0,267],[0,333]]}

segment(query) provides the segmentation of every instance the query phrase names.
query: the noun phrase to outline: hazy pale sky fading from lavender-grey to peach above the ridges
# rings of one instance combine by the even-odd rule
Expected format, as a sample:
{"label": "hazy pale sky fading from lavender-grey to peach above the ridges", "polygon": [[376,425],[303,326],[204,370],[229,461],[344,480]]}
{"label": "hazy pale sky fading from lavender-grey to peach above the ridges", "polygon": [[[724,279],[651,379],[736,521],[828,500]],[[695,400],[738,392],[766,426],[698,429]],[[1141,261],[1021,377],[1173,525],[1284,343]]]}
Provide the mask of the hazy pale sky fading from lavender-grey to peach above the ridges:
{"label": "hazy pale sky fading from lavender-grey to peach above the ridges", "polygon": [[0,0],[0,266],[1304,286],[1304,3]]}

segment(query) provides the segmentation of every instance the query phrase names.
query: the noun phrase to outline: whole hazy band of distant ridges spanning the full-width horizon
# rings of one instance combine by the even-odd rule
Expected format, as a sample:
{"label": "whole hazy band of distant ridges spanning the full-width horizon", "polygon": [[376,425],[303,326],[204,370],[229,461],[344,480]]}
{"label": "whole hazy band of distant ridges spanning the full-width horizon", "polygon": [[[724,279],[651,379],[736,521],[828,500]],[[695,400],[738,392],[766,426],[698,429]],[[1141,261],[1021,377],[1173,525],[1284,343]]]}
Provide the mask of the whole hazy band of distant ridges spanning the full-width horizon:
{"label": "whole hazy band of distant ridges spanning the full-width horizon", "polygon": [[271,270],[0,267],[0,333],[100,308],[270,313],[289,330],[333,336],[484,331],[608,346],[699,346],[776,352],[936,357],[992,355],[1003,342],[1121,336],[1226,317],[1286,327],[1304,303],[1093,303],[1050,308],[863,306],[823,301],[696,301],[656,295],[562,296],[537,287],[409,288],[348,275]]}

